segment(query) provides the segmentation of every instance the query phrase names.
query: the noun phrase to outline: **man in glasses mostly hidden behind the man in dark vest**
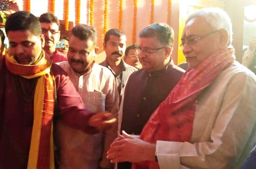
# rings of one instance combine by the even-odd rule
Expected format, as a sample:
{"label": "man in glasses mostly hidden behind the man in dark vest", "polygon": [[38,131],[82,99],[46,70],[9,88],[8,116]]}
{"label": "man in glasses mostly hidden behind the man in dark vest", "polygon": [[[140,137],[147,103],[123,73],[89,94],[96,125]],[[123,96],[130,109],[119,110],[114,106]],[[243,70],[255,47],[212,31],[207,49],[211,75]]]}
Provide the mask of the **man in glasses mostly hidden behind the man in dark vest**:
{"label": "man in glasses mostly hidden behind the man in dark vest", "polygon": [[129,65],[137,69],[141,69],[142,65],[139,62],[138,53],[139,53],[138,45],[132,44],[125,49],[125,56],[123,57],[123,60],[125,61],[125,63]]}

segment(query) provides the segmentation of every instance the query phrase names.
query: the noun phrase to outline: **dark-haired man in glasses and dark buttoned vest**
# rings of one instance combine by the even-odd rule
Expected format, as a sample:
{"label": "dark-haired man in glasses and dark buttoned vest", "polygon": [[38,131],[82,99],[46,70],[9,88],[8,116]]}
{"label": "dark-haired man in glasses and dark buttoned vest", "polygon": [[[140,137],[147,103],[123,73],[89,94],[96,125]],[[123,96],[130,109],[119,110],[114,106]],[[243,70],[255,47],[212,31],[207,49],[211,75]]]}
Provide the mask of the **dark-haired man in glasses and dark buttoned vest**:
{"label": "dark-haired man in glasses and dark buttoned vest", "polygon": [[[139,33],[138,58],[142,69],[130,75],[119,111],[119,133],[140,135],[150,115],[165,100],[185,70],[173,63],[174,32],[165,23],[154,23]],[[120,126],[121,125],[121,126]],[[131,168],[131,163],[118,163]]]}

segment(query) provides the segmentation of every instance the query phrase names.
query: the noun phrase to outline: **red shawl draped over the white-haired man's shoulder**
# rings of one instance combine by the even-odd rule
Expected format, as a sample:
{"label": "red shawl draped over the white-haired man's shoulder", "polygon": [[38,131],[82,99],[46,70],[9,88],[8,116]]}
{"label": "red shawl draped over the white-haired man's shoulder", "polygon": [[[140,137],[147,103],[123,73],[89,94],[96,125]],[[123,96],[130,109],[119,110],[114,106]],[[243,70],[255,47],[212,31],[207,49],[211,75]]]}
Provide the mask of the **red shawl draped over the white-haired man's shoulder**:
{"label": "red shawl draped over the white-haired man's shoulder", "polygon": [[[198,95],[235,61],[233,48],[219,50],[196,69],[188,69],[144,126],[140,138],[150,143],[190,141]],[[132,169],[159,169],[155,161],[133,163]]]}

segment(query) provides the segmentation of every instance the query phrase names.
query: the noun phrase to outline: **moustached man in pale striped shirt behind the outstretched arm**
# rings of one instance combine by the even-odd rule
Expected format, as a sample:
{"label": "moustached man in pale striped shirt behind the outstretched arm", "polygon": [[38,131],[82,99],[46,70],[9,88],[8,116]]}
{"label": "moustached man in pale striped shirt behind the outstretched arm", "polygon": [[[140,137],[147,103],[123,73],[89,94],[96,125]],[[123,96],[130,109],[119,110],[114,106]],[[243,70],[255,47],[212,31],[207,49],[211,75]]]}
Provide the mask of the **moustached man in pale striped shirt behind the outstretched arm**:
{"label": "moustached man in pale striped shirt behind the outstretched arm", "polygon": [[[88,110],[109,111],[117,117],[118,90],[110,70],[95,63],[97,32],[93,26],[79,24],[71,31],[68,62],[61,62]],[[60,168],[112,168],[106,158],[109,145],[117,137],[117,125],[109,131],[87,135],[57,124]]]}

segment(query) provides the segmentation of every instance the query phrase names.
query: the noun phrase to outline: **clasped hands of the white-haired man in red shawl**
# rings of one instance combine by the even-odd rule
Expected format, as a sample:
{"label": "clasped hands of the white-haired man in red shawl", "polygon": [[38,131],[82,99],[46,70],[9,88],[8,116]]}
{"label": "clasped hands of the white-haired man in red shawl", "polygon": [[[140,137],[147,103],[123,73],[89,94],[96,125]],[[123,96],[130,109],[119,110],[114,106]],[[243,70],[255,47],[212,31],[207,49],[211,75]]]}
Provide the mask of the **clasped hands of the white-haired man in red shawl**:
{"label": "clasped hands of the white-haired man in red shawl", "polygon": [[115,162],[140,162],[154,161],[155,144],[145,142],[139,138],[132,137],[122,131],[119,139],[116,139],[107,151],[107,158]]}

